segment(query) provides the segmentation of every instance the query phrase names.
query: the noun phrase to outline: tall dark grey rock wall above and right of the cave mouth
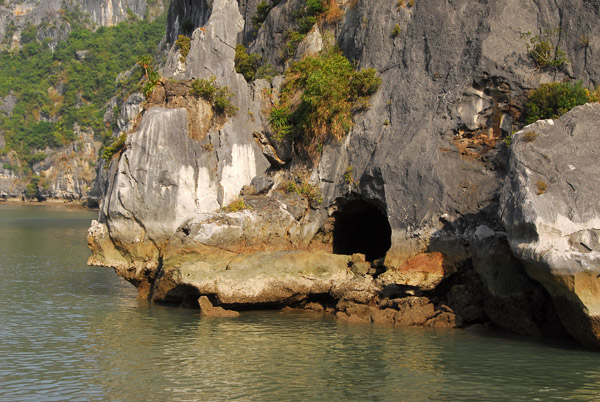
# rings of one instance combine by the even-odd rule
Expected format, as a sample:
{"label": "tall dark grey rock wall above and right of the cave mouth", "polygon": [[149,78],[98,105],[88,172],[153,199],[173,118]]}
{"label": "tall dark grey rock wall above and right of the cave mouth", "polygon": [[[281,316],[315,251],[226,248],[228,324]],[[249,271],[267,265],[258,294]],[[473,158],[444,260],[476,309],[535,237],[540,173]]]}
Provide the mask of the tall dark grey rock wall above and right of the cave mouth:
{"label": "tall dark grey rock wall above and right of the cave mouth", "polygon": [[[578,4],[586,8],[585,2]],[[577,9],[573,6],[433,0],[397,10],[391,2],[367,0],[347,9],[339,37],[342,49],[361,67],[375,67],[383,79],[371,99],[373,106],[355,119],[347,164],[359,182],[356,191],[384,206],[392,227],[392,255],[402,259],[415,254],[431,233],[453,237],[458,228],[448,233],[442,215],[471,226],[465,216],[496,209],[503,171],[494,160],[501,147],[470,154],[463,152],[459,140],[476,126],[492,142],[500,138],[499,122],[491,116],[484,122],[483,116],[494,109],[509,119],[503,105],[517,102],[525,89],[549,78],[528,59],[520,32],[568,24],[573,35],[561,47],[573,60],[574,74],[600,78],[600,71],[580,57],[574,21],[581,17],[571,11]],[[402,33],[392,38],[396,23]],[[476,144],[466,147],[476,149]],[[339,148],[331,151],[343,153]],[[338,171],[338,183],[342,177]],[[338,184],[338,196],[340,187],[347,188]]]}

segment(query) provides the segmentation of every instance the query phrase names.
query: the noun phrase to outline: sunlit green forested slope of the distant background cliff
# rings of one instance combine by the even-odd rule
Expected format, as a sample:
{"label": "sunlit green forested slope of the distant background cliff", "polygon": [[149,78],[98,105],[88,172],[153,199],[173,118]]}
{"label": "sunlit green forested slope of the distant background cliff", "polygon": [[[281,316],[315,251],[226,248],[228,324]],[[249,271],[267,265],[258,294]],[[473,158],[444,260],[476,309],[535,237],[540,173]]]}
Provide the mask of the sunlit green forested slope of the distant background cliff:
{"label": "sunlit green forested slope of the distant background cliff", "polygon": [[12,115],[0,113],[6,142],[0,154],[15,151],[28,171],[47,147],[75,139],[74,123],[101,135],[107,101],[117,90],[136,88],[141,76],[137,69],[117,81],[118,74],[135,65],[136,55],[156,49],[165,21],[130,19],[95,32],[75,24],[54,50],[49,39],[25,32],[21,49],[0,52],[0,97],[17,98]]}

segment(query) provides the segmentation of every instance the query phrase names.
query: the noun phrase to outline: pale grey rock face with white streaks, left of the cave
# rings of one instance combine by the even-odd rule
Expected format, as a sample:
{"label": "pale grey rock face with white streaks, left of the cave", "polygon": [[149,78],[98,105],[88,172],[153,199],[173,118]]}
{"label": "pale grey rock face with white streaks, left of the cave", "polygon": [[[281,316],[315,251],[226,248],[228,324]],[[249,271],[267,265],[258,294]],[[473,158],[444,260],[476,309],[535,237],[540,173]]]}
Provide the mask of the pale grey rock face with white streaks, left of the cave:
{"label": "pale grey rock face with white streaks, left of the cave", "polygon": [[[236,35],[243,26],[237,3],[218,0],[213,7],[206,28],[194,32],[185,74],[215,75],[218,85],[227,83],[239,111],[220,122],[212,119],[210,107],[153,107],[144,114],[109,178],[102,205],[101,221],[111,222],[112,239],[151,241],[161,249],[184,223],[235,201],[242,187],[269,166],[252,137],[260,121],[253,121],[250,112],[260,115],[261,100],[233,65]],[[214,124],[192,135],[190,113],[196,121]]]}

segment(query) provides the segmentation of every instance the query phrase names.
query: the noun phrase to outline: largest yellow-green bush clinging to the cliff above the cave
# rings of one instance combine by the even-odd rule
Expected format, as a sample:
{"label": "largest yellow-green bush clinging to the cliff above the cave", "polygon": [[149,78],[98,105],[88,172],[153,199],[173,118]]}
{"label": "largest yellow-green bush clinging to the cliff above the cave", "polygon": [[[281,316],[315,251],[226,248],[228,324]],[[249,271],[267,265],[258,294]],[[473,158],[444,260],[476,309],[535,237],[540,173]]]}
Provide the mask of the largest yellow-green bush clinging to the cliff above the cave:
{"label": "largest yellow-green bush clinging to the cliff above the cave", "polygon": [[353,109],[364,107],[381,85],[377,71],[357,71],[338,49],[293,63],[285,73],[281,103],[269,116],[276,133],[309,153],[329,139],[341,140],[352,127]]}

